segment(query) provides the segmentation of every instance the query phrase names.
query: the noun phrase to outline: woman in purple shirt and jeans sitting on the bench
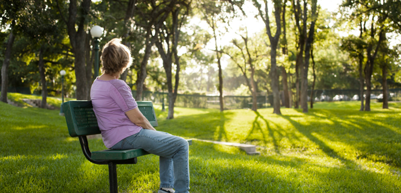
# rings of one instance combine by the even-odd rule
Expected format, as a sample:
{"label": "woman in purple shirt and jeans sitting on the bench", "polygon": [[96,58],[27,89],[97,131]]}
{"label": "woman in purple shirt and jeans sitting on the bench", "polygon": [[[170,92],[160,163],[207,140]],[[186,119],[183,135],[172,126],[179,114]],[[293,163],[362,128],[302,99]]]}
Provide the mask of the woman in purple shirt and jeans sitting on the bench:
{"label": "woman in purple shirt and jeans sitting on the bench", "polygon": [[188,192],[188,142],[156,131],[139,111],[131,89],[125,81],[118,79],[131,61],[130,51],[120,39],[114,38],[104,45],[101,54],[103,73],[90,88],[103,143],[107,148],[141,148],[159,155],[160,189],[157,192]]}

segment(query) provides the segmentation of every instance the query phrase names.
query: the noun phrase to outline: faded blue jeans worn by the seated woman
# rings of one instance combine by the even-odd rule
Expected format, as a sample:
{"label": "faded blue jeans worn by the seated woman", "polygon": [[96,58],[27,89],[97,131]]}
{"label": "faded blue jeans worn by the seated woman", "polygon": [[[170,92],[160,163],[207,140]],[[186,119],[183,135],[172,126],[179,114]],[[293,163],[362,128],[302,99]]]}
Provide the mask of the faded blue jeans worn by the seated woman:
{"label": "faded blue jeans worn by the seated woman", "polygon": [[188,142],[182,137],[142,128],[138,133],[122,139],[111,148],[140,148],[159,155],[160,187],[174,188],[176,193],[188,192]]}

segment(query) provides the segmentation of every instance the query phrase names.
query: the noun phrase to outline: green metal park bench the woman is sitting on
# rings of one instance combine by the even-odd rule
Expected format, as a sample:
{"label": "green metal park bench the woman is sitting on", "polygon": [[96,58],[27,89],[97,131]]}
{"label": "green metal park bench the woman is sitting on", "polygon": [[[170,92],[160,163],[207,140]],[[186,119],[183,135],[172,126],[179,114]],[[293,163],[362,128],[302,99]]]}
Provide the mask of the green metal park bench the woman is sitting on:
{"label": "green metal park bench the woman is sitting on", "polygon": [[[142,114],[155,127],[158,125],[153,104],[150,101],[137,101]],[[138,156],[149,154],[143,149],[105,149],[90,151],[86,135],[100,134],[97,119],[89,100],[71,100],[64,102],[62,108],[67,122],[69,135],[78,137],[85,157],[95,164],[108,165],[108,179],[110,192],[117,193],[117,166],[116,164],[135,164]],[[191,145],[192,140],[187,140]]]}

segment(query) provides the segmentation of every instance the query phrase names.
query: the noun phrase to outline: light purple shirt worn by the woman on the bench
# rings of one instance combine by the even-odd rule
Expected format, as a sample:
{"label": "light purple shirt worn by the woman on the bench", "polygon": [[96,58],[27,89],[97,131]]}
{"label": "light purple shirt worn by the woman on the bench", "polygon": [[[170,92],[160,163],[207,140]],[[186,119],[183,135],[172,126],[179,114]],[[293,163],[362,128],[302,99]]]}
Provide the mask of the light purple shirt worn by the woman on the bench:
{"label": "light purple shirt worn by the woman on the bench", "polygon": [[90,99],[107,148],[142,128],[132,123],[125,114],[138,106],[125,81],[95,79],[90,88]]}

